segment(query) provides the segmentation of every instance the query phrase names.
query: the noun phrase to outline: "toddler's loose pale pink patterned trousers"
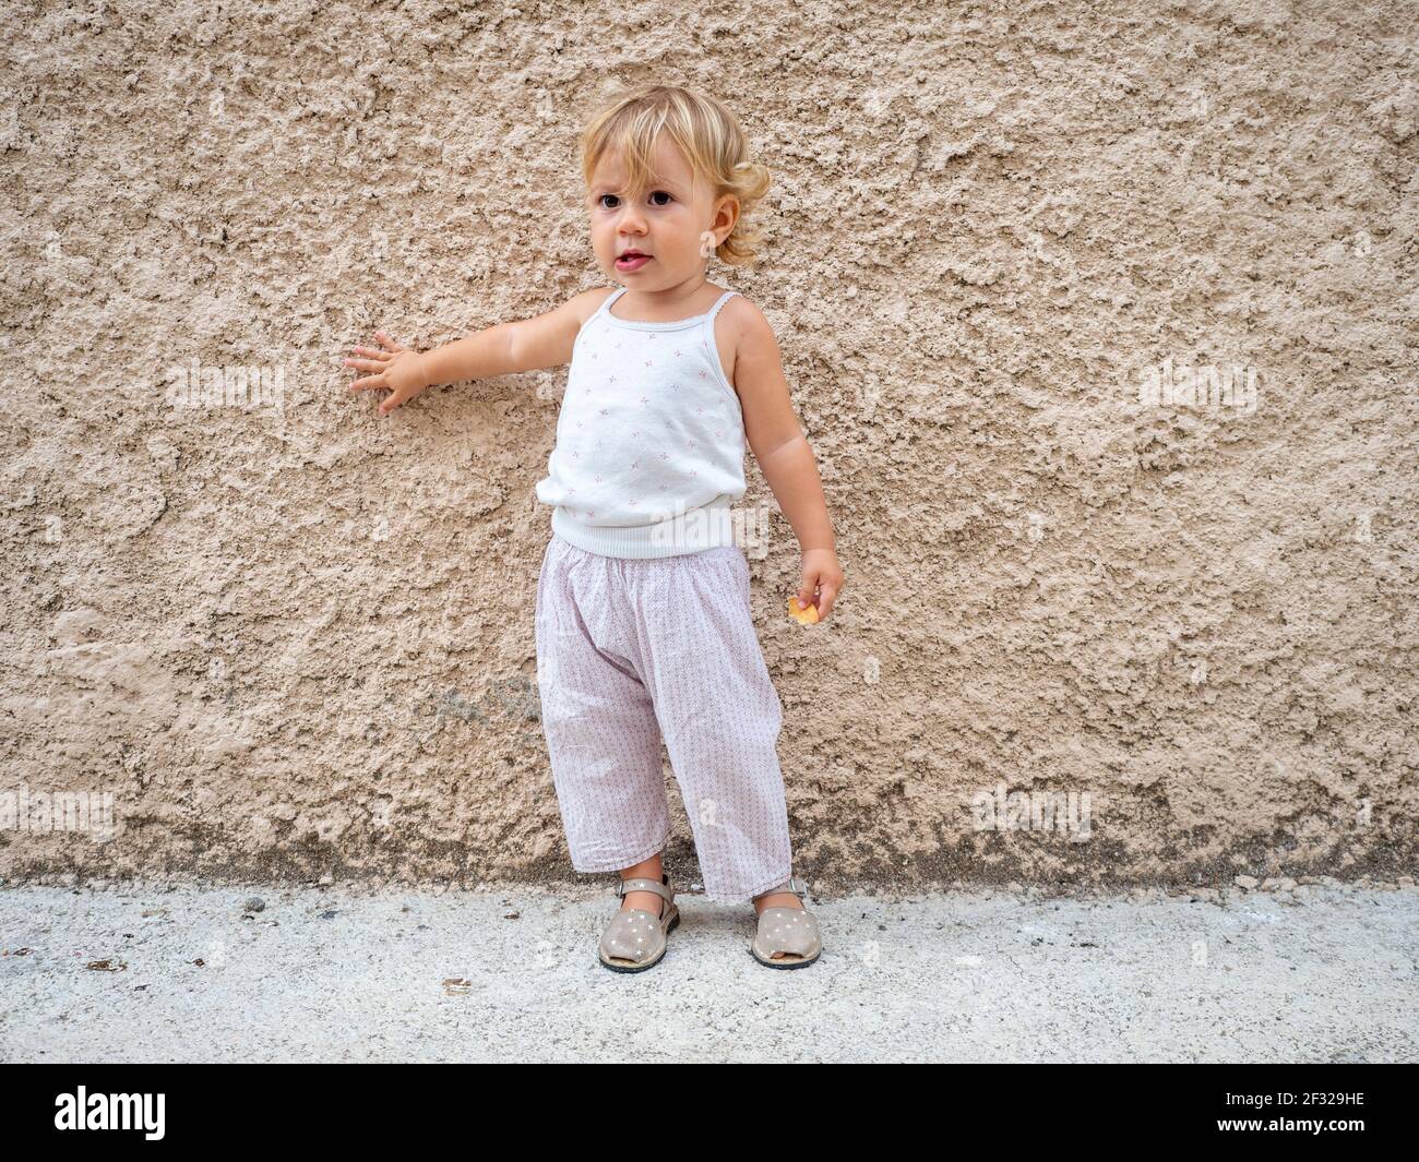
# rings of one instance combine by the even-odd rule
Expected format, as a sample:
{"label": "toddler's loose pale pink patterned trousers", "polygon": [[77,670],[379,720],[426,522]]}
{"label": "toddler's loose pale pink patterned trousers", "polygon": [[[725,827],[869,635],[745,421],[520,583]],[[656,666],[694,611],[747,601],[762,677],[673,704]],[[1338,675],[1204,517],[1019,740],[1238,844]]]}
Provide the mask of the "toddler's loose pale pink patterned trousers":
{"label": "toddler's loose pale pink patterned trousers", "polygon": [[536,660],[572,867],[620,871],[666,846],[664,739],[705,897],[748,901],[789,878],[775,751],[783,707],[738,545],[631,559],[553,533],[538,577]]}

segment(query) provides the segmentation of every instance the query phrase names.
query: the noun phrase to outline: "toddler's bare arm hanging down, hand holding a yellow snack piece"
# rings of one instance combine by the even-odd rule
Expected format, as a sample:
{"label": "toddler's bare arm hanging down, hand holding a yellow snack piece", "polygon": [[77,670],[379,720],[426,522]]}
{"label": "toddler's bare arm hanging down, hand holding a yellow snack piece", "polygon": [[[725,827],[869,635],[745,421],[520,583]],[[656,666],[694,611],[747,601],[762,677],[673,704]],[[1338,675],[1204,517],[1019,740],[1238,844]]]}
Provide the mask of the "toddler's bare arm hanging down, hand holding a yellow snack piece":
{"label": "toddler's bare arm hanging down, hand holding a yellow snack piece", "polygon": [[[735,312],[739,323],[734,356],[734,386],[744,410],[744,437],[753,448],[759,470],[778,498],[779,508],[797,535],[803,552],[799,602],[817,606],[822,621],[843,587],[837,563],[837,542],[827,516],[823,482],[807,437],[793,413],[789,384],[783,377],[773,328],[752,302]],[[729,299],[732,305],[735,299]]]}

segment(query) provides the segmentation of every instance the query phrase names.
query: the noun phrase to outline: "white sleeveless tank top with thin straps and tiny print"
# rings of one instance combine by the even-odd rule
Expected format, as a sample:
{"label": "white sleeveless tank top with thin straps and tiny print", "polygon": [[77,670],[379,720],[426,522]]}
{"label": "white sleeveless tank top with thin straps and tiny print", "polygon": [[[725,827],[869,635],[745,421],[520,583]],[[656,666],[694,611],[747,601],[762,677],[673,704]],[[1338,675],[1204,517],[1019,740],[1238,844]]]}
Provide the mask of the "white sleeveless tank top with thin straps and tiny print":
{"label": "white sleeveless tank top with thin straps and tiny print", "polygon": [[552,531],[603,556],[653,558],[734,545],[745,492],[744,413],[714,319],[617,319],[609,295],[576,335],[556,446],[536,498]]}

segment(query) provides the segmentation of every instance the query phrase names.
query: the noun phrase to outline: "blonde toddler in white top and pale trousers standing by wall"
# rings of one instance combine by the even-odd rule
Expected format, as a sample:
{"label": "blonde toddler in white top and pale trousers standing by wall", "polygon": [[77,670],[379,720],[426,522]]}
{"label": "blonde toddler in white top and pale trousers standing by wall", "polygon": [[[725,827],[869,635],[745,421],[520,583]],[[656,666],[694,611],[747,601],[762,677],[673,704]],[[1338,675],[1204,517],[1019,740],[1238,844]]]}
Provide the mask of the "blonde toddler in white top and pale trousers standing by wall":
{"label": "blonde toddler in white top and pale trousers standing by wall", "polygon": [[744,295],[705,278],[711,255],[753,258],[745,216],[768,170],[719,101],[678,87],[623,95],[580,145],[592,251],[617,285],[429,352],[376,331],[380,348],[345,360],[369,372],[349,386],[387,389],[387,416],[430,384],[570,360],[536,482],[552,509],[538,685],[572,865],[620,874],[600,962],[648,969],[680,922],[661,867],[664,741],[705,895],[752,901],[755,959],[803,968],[822,941],[792,875],[775,751],[782,704],[729,521],[745,492],[745,441],[803,550],[803,620],[829,616],[843,572],[773,331]]}

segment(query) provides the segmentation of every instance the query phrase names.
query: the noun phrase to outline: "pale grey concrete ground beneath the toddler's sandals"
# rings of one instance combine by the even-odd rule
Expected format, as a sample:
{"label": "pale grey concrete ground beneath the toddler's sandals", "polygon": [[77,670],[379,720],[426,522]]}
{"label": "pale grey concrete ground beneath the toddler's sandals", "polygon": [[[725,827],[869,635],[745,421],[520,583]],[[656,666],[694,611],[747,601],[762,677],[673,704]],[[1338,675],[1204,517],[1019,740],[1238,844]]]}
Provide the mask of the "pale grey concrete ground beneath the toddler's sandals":
{"label": "pale grey concrete ground beneath the toddler's sandals", "polygon": [[4,885],[0,1060],[1419,1061],[1412,880],[810,897],[789,972],[749,905],[677,902],[613,973],[600,884]]}

